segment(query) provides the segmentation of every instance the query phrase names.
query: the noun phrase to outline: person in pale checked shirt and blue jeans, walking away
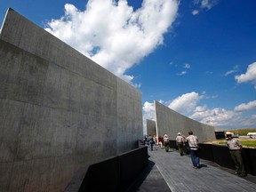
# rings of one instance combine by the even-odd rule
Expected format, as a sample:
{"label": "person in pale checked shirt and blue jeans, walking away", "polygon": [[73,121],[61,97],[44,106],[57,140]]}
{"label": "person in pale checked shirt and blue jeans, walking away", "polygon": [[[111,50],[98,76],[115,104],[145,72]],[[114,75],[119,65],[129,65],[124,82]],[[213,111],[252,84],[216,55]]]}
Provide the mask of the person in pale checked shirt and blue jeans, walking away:
{"label": "person in pale checked shirt and blue jeans, walking away", "polygon": [[191,156],[193,167],[195,169],[200,168],[200,164],[199,164],[200,159],[198,156],[198,139],[196,135],[193,135],[192,131],[189,131],[187,140],[190,148],[190,156]]}

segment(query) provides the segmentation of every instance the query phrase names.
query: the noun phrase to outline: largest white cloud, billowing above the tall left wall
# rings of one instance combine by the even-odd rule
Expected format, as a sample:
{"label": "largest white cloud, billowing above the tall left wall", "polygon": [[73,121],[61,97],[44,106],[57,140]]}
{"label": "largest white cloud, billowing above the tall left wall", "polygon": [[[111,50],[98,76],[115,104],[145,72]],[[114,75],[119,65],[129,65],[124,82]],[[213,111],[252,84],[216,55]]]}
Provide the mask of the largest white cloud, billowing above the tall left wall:
{"label": "largest white cloud, billowing above the tall left wall", "polygon": [[144,0],[134,12],[125,0],[89,0],[85,11],[65,4],[65,15],[45,30],[131,83],[126,69],[163,44],[178,6],[178,0]]}

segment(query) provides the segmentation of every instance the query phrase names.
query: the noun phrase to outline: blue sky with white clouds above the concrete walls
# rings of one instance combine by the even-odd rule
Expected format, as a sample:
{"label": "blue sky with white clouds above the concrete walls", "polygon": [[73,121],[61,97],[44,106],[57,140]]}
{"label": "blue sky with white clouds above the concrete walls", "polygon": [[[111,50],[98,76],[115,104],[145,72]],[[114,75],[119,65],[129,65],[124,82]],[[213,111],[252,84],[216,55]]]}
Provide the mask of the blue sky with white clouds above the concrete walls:
{"label": "blue sky with white clouds above the concrete walls", "polygon": [[255,0],[0,0],[154,100],[222,129],[256,127]]}

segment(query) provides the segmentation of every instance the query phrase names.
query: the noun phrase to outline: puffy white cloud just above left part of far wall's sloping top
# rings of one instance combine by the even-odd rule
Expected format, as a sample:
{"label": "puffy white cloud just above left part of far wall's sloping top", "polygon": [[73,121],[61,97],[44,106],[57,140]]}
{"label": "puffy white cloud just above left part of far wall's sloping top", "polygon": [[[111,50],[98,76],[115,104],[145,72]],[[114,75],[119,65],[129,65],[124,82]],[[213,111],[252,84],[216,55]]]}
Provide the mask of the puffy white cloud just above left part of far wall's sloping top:
{"label": "puffy white cloud just above left part of far wall's sloping top", "polygon": [[188,92],[172,100],[168,107],[181,114],[188,114],[195,110],[197,102],[203,97],[203,95],[200,96],[197,92]]}

